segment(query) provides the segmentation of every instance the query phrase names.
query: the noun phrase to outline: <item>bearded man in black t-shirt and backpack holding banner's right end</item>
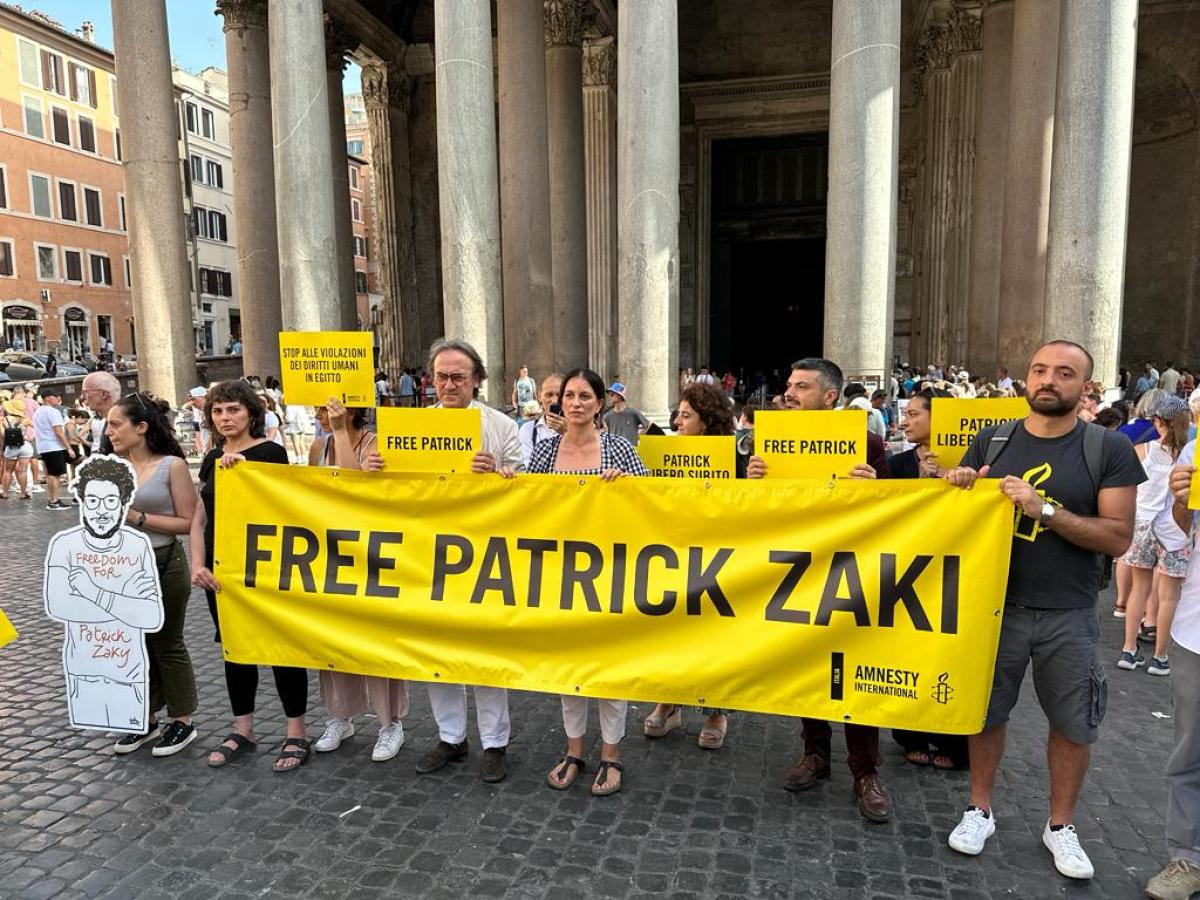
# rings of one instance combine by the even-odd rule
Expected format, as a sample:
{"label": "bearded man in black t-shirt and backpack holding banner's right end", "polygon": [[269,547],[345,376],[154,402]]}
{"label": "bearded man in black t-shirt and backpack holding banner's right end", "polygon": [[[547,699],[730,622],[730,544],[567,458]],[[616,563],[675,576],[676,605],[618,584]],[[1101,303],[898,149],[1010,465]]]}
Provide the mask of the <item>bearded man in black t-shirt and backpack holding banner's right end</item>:
{"label": "bearded man in black t-shirt and backpack holding banner's right end", "polygon": [[1093,874],[1072,821],[1108,698],[1096,652],[1097,556],[1117,557],[1128,550],[1136,486],[1146,480],[1123,434],[1087,436],[1099,426],[1081,421],[1076,410],[1091,377],[1092,356],[1079,344],[1043,346],[1026,379],[1028,416],[1007,442],[997,428],[982,431],[961,466],[946,475],[960,487],[971,487],[977,478],[998,478],[1015,508],[988,719],[970,742],[971,799],[949,845],[974,856],[996,830],[991,792],[1006,724],[1032,660],[1033,688],[1050,722],[1050,818],[1042,842],[1054,854],[1055,868],[1072,878]]}

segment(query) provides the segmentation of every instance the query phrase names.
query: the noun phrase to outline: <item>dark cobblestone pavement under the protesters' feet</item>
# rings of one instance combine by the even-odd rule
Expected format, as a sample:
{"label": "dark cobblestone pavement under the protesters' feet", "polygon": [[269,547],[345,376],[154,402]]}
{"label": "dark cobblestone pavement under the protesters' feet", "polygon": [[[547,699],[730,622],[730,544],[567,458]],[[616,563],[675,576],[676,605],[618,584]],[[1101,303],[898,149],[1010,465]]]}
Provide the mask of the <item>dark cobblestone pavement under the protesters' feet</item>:
{"label": "dark cobblestone pavement under the protesters' feet", "polygon": [[[436,731],[415,685],[395,760],[371,762],[368,720],[336,754],[276,775],[283,722],[266,676],[258,751],[210,769],[205,751],[229,722],[198,594],[187,635],[200,738],[173,757],[149,749],[116,757],[112,737],[66,727],[61,626],[42,614],[41,568],[47,539],[73,514],[36,498],[0,502],[0,605],[22,632],[0,649],[0,896],[1135,898],[1163,862],[1171,724],[1153,713],[1170,713],[1169,679],[1112,665],[1076,820],[1096,864],[1088,883],[1060,877],[1040,844],[1045,722],[1028,685],[997,785],[998,832],[973,859],[946,846],[966,802],[965,774],[910,766],[884,737],[895,816],[871,826],[852,802],[836,736],[830,781],[806,794],[781,788],[799,748],[797,722],[784,718],[734,716],[714,754],[696,746],[697,713],[686,734],[652,743],[641,737],[647,710],[635,706],[626,787],[593,799],[583,784],[563,793],[544,785],[562,720],[557,700],[535,694],[512,694],[505,782],[482,784],[478,756],[418,775]],[[1116,648],[1111,595],[1102,608],[1105,646]],[[322,713],[310,712],[314,734]]]}

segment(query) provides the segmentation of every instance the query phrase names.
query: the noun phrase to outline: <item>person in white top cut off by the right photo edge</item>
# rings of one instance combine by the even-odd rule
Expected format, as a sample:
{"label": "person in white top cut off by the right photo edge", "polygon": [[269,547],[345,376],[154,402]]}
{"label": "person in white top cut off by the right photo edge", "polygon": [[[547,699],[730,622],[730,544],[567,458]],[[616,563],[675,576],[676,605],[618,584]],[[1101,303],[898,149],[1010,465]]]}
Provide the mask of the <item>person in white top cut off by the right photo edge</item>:
{"label": "person in white top cut off by the right photo edge", "polygon": [[[1190,541],[1196,515],[1188,509],[1195,473],[1195,442],[1171,470],[1171,516]],[[1146,894],[1188,898],[1200,893],[1200,553],[1193,553],[1171,622],[1171,700],[1175,746],[1166,762],[1166,868],[1150,880]]]}

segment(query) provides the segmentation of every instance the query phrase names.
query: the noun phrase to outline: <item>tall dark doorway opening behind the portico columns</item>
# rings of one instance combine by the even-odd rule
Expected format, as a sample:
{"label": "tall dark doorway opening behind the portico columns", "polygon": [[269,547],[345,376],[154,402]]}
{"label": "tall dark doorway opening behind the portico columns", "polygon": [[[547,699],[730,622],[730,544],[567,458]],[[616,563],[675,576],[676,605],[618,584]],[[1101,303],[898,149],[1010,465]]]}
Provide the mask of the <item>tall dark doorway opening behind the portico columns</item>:
{"label": "tall dark doorway opening behind the portico columns", "polygon": [[[709,359],[750,386],[821,355],[828,134],[713,146]],[[769,384],[770,390],[780,385]]]}

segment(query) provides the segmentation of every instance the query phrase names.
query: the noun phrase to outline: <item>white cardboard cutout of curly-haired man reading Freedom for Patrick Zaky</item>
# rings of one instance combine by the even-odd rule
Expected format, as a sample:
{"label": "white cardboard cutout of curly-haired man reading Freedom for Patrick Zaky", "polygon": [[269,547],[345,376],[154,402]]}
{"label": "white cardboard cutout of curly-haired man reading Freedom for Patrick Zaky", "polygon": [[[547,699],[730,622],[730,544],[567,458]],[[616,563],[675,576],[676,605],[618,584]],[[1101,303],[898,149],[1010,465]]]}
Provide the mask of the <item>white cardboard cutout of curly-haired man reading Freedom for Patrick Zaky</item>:
{"label": "white cardboard cutout of curly-haired man reading Freedom for Patrick Zaky", "polygon": [[149,719],[145,632],[162,628],[162,588],[150,539],[125,524],[133,467],[89,457],[71,491],[79,524],[46,552],[46,614],[66,625],[62,671],[76,728],[143,733]]}

